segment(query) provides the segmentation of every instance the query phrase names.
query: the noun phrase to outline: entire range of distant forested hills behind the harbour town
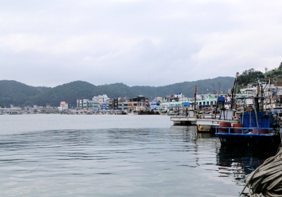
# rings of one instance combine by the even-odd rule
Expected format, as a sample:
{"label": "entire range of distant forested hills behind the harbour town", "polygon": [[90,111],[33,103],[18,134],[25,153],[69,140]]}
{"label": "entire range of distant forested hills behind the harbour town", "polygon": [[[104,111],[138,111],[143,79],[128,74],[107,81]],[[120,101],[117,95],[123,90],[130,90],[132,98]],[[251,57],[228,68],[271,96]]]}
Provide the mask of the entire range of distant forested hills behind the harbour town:
{"label": "entire range of distant forested hills behind the harbour town", "polygon": [[[32,87],[13,80],[0,80],[0,103],[5,106],[59,106],[61,101],[76,106],[76,99],[92,99],[93,96],[106,94],[110,98],[135,97],[144,95],[150,100],[156,96],[176,94],[180,91],[185,96],[192,97],[197,85],[198,94],[214,93],[219,89],[228,91],[233,87],[234,77],[216,77],[195,82],[182,82],[162,87],[133,86],[128,87],[123,83],[104,84],[96,86],[89,82],[75,81],[57,87]],[[213,86],[214,84],[214,86]]]}

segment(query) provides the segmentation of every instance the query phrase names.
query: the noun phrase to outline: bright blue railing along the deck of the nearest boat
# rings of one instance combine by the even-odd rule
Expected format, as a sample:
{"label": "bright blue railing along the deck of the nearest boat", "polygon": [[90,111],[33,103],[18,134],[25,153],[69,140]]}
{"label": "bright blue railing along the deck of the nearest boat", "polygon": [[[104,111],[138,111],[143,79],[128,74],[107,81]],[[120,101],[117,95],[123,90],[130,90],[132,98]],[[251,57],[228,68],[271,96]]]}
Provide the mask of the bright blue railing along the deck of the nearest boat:
{"label": "bright blue railing along the deck of the nearest boat", "polygon": [[[219,132],[219,129],[228,129],[228,132]],[[234,129],[236,129],[236,133],[234,132]],[[239,130],[240,129],[240,130]],[[254,134],[254,129],[257,129],[258,131],[260,129],[268,129],[269,130],[269,134],[259,134],[259,132],[257,132],[256,134]],[[241,133],[238,133],[241,132]],[[216,134],[219,135],[254,135],[254,136],[267,136],[267,135],[274,135],[274,128],[257,128],[257,127],[216,127]]]}

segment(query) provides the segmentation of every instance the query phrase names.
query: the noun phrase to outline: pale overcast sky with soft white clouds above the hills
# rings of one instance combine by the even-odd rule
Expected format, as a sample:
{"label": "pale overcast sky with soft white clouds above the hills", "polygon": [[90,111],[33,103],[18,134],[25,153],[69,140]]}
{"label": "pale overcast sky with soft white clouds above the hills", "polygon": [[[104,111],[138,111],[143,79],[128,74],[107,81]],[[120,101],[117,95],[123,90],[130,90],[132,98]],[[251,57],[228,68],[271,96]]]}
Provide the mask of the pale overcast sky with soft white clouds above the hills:
{"label": "pale overcast sky with soft white clouds above the hills", "polygon": [[282,1],[0,1],[0,80],[163,86],[282,61]]}

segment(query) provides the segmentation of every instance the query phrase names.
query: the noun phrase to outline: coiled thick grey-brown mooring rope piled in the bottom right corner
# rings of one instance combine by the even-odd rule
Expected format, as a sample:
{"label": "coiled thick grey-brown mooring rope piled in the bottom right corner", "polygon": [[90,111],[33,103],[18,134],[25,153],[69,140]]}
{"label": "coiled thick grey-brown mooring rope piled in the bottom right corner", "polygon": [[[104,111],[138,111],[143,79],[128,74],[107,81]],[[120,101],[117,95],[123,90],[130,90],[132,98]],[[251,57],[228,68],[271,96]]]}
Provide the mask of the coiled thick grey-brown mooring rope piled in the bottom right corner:
{"label": "coiled thick grey-brown mooring rope piled in the bottom right corner", "polygon": [[250,197],[282,197],[282,149],[247,177],[246,187]]}

